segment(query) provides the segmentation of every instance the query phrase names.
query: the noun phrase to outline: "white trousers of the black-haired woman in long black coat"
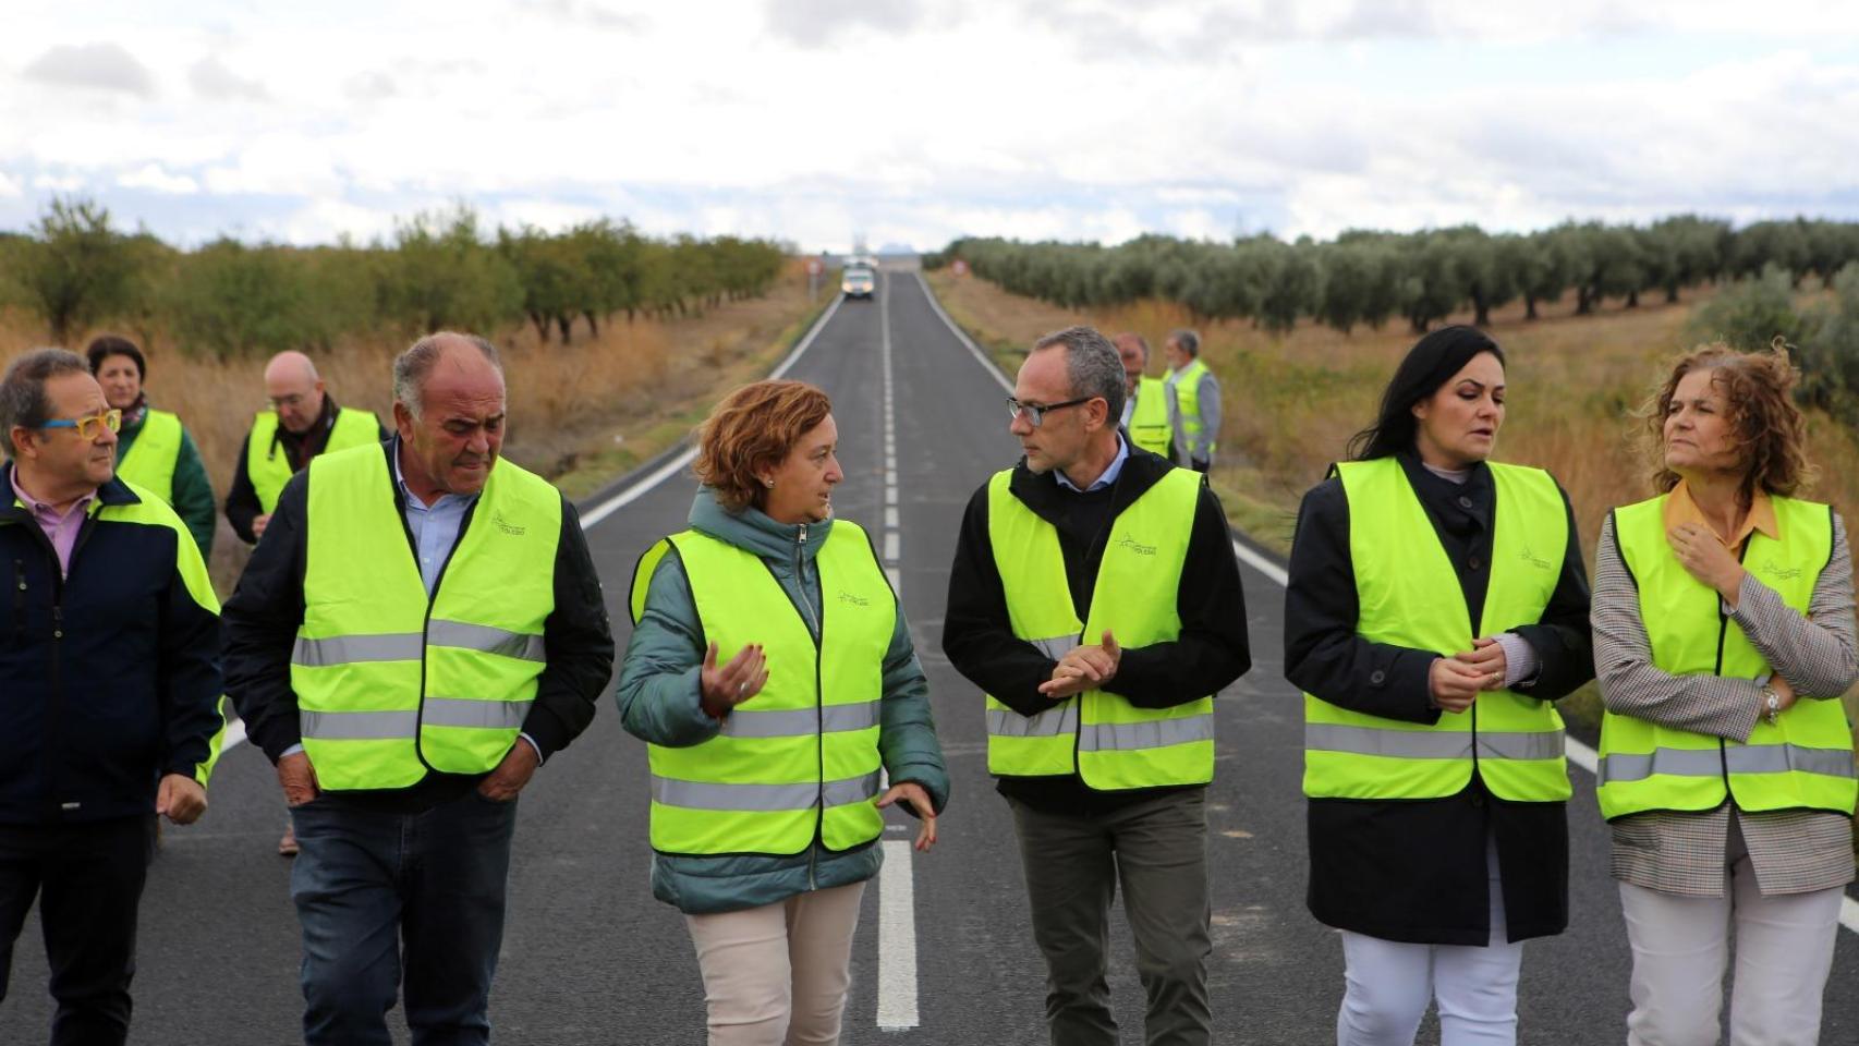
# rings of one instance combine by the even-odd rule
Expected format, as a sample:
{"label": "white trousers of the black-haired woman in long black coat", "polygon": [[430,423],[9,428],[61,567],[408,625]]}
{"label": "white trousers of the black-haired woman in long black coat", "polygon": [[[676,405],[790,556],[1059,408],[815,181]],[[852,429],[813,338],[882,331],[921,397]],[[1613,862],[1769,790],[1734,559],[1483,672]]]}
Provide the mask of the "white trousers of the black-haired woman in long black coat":
{"label": "white trousers of the black-haired woman in long black coat", "polygon": [[1441,1046],[1517,1042],[1523,942],[1504,940],[1504,886],[1491,866],[1491,944],[1402,944],[1342,931],[1344,992],[1337,1046],[1413,1046],[1430,1001]]}

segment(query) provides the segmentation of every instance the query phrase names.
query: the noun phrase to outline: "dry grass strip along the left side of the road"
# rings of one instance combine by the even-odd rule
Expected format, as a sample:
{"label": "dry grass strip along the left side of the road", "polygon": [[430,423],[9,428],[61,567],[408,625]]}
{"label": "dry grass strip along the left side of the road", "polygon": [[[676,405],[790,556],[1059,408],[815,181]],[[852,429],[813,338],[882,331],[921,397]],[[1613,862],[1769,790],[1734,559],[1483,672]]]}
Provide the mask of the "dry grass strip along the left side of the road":
{"label": "dry grass strip along the left side of the road", "polygon": [[[708,403],[734,383],[751,381],[784,349],[803,320],[824,307],[807,299],[801,262],[758,299],[727,303],[684,320],[621,318],[591,338],[541,344],[534,327],[496,334],[509,385],[511,461],[554,479],[571,498],[675,444]],[[74,344],[84,346],[87,331]],[[0,359],[48,342],[20,312],[0,312]],[[344,407],[364,407],[392,425],[392,359],[405,340],[381,336],[342,344],[316,359],[318,372]],[[169,340],[143,346],[149,398],[175,411],[201,448],[214,492],[225,500],[240,442],[253,412],[266,407],[262,359],[195,359]],[[249,556],[225,518],[214,541],[214,583],[232,591]]]}

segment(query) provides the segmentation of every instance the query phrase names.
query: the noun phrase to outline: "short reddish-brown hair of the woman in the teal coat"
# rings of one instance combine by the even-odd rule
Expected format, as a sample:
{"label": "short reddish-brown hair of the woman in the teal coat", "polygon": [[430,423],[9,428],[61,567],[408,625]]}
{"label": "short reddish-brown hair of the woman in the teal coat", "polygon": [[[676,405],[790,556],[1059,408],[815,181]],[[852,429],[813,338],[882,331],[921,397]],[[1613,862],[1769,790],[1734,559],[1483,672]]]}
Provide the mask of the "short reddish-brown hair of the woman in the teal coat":
{"label": "short reddish-brown hair of the woman in the teal coat", "polygon": [[757,381],[723,398],[697,429],[697,479],[731,513],[768,503],[760,472],[779,466],[799,438],[833,411],[805,381]]}

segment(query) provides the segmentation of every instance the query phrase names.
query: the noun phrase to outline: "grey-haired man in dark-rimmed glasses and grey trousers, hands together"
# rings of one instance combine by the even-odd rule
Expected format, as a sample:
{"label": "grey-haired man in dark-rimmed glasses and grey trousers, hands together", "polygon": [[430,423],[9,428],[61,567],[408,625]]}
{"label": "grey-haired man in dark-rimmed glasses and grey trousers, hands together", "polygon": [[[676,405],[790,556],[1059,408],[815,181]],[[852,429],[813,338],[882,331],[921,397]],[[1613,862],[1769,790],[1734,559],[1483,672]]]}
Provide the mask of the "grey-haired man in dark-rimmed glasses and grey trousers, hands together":
{"label": "grey-haired man in dark-rimmed glasses and grey trousers, hands together", "polygon": [[1054,1044],[1112,1046],[1121,883],[1145,1042],[1212,1040],[1212,695],[1251,665],[1225,513],[1203,476],[1117,431],[1127,383],[1089,327],[1039,338],[1008,398],[1026,457],[969,502],[943,650],[985,699]]}

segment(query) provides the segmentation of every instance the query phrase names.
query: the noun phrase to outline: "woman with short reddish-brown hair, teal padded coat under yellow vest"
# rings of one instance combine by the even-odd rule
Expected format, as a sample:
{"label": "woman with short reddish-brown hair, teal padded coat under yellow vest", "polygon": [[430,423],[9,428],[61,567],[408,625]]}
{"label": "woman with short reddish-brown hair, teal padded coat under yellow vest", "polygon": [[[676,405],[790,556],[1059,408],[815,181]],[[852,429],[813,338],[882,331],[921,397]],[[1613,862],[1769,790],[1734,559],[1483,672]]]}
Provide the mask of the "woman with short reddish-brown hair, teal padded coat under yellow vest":
{"label": "woman with short reddish-brown hair, teal padded coat under yellow vest", "polygon": [[634,572],[619,674],[651,745],[653,896],[684,912],[712,1046],[833,1044],[881,808],[930,849],[948,803],[930,684],[870,539],[833,518],[825,392],[731,392],[695,470],[690,530]]}

